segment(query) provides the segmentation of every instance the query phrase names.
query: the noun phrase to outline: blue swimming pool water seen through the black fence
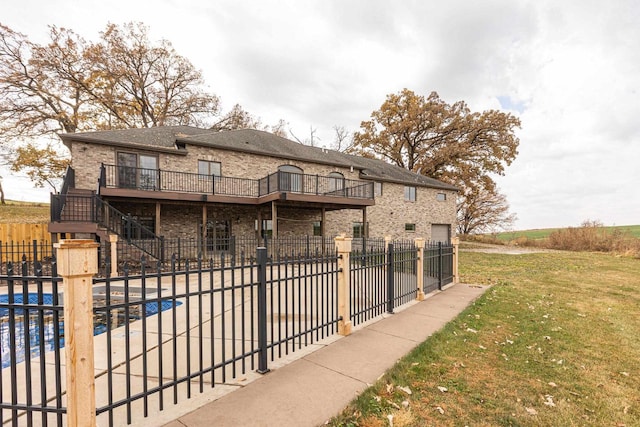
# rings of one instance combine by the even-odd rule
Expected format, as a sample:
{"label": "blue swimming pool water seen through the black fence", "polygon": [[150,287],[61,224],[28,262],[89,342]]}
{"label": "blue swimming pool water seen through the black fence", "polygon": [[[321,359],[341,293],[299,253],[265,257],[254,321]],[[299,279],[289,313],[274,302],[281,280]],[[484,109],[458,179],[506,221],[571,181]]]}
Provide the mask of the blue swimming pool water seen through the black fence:
{"label": "blue swimming pool water seen through the black fence", "polygon": [[[28,294],[28,304],[38,304],[38,294],[30,293]],[[52,294],[43,294],[42,296],[42,304],[43,305],[52,305],[53,304],[53,295]],[[23,294],[15,294],[14,295],[14,304],[22,304],[23,303]],[[9,302],[8,295],[0,295],[0,304],[7,304]],[[62,303],[62,299],[59,301]],[[182,303],[180,301],[176,301],[175,305],[179,306]],[[145,304],[146,315],[153,316],[158,314],[158,311],[165,311],[173,307],[173,302],[170,300],[161,300],[160,304],[157,302],[149,302]],[[29,347],[30,358],[34,358],[40,355],[41,352],[47,352],[55,349],[55,322],[53,320],[53,310],[44,310],[43,318],[44,324],[42,325],[42,335],[44,337],[44,342],[40,343],[40,322],[38,319],[38,314],[35,313],[35,310],[30,310],[30,315],[28,318],[28,325],[25,325],[24,319],[22,318],[24,314],[24,310],[16,309],[16,316],[20,316],[16,319],[15,323],[15,351],[16,351],[16,362],[24,362],[25,360],[25,352],[27,347]],[[124,317],[124,316],[122,316]],[[139,317],[131,315],[130,320],[138,320]],[[124,319],[118,320],[118,326],[121,326],[124,323]],[[9,330],[9,309],[6,307],[0,308],[0,359],[2,360],[1,368],[4,369],[11,365],[11,333]],[[27,346],[27,342],[25,341],[25,327],[29,330],[29,343]],[[62,313],[60,312],[59,321],[58,321],[58,331],[59,331],[59,347],[64,347],[64,322],[62,319]],[[94,319],[93,332],[94,335],[99,335],[107,331],[107,326],[103,321],[100,320],[100,316],[96,316]],[[42,345],[41,345],[42,344]]]}

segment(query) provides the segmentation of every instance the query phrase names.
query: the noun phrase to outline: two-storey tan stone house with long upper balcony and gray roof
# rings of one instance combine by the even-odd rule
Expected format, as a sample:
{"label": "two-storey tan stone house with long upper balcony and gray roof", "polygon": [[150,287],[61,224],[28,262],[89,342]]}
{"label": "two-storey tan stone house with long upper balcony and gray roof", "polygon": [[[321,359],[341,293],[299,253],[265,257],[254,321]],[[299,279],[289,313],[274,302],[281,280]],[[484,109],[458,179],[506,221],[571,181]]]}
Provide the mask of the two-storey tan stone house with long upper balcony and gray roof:
{"label": "two-storey tan stone house with long upper balcony and gray roof", "polygon": [[[455,229],[455,187],[263,131],[171,126],[60,137],[72,169],[66,199],[57,214],[52,209],[49,230],[59,237],[105,237],[91,221],[69,221],[89,209],[72,204],[74,196],[97,196],[165,238],[345,233],[446,241]],[[121,229],[144,237],[136,233]]]}

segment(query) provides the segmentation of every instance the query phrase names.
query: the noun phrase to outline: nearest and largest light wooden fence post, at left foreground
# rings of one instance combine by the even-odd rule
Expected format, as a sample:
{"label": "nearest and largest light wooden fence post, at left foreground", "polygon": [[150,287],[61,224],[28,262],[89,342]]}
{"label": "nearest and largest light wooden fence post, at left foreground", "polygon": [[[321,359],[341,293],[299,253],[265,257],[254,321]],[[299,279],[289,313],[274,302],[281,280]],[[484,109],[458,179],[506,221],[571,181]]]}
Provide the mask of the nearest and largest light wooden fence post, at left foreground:
{"label": "nearest and largest light wooden fence post, at left foreground", "polygon": [[56,243],[64,292],[64,347],[67,379],[67,425],[96,425],[93,357],[93,283],[98,247],[93,240]]}

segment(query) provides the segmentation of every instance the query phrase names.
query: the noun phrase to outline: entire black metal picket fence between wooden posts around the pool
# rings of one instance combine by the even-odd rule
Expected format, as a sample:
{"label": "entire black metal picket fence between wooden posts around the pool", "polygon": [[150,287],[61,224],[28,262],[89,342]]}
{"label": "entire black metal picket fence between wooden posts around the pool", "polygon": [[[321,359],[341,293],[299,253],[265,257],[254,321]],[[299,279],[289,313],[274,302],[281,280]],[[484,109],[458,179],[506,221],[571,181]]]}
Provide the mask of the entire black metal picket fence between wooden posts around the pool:
{"label": "entire black metal picket fence between wooden posts around the pool", "polygon": [[[109,276],[107,258],[106,277],[93,281],[100,425],[130,424],[205,388],[264,373],[279,358],[337,333],[346,319],[335,243],[283,242],[268,239],[271,253],[254,247],[233,256],[222,251],[217,259],[173,256],[168,269],[142,257],[118,277]],[[354,326],[415,299],[420,273],[413,242],[358,244],[346,267]],[[437,277],[440,287],[452,279],[452,249],[427,246],[425,279]],[[61,426],[64,290],[55,259],[49,276],[33,265],[33,274],[26,261],[0,274],[0,424]]]}

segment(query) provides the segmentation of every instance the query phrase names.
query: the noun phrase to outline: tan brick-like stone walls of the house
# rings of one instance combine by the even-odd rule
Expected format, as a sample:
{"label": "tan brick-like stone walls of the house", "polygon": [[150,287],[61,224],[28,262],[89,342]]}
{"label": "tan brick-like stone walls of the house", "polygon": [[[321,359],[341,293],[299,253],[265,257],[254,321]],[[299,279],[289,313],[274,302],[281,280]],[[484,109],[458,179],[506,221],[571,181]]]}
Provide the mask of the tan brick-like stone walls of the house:
{"label": "tan brick-like stone walls of the house", "polygon": [[[252,153],[227,151],[200,145],[187,145],[185,150],[169,153],[167,149],[154,152],[149,149],[118,148],[86,142],[71,144],[72,167],[75,170],[76,187],[95,190],[102,163],[115,165],[118,152],[154,155],[158,158],[161,170],[198,173],[198,161],[219,162],[221,174],[228,177],[259,179],[274,173],[282,165],[293,165],[304,174],[327,176],[338,172],[345,179],[359,180],[360,172],[354,168],[338,167],[317,162],[293,161],[278,157]],[[185,154],[186,153],[186,154]],[[370,182],[370,181],[369,181]],[[447,224],[455,230],[456,192],[425,186],[416,186],[415,201],[405,200],[405,185],[395,182],[382,182],[382,193],[376,194],[375,205],[366,208],[368,235],[413,239],[431,238],[432,224]],[[438,200],[440,198],[445,200]],[[444,194],[444,196],[442,196]],[[150,194],[150,197],[153,197]],[[203,223],[224,222],[232,235],[256,235],[257,220],[271,218],[271,206],[221,205],[204,202],[131,200],[113,201],[112,204],[125,213],[138,218],[154,221],[156,233],[168,238],[200,238]],[[157,213],[160,212],[160,216]],[[313,235],[314,224],[322,218],[321,208],[278,207],[279,235]],[[360,209],[342,209],[327,211],[324,231],[326,236],[345,233],[353,236],[354,223],[363,221]],[[316,233],[318,228],[316,227]]]}

